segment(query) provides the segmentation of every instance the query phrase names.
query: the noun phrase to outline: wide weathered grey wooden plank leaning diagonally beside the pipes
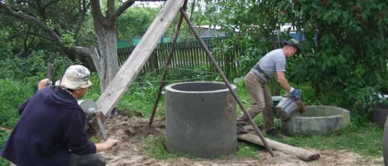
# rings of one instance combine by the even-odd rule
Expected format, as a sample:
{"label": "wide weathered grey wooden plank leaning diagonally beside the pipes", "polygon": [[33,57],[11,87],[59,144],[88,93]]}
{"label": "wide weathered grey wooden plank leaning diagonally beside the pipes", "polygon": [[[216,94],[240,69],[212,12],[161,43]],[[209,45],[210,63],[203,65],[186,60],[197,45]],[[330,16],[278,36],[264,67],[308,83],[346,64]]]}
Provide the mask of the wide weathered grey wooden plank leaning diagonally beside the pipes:
{"label": "wide weathered grey wooden plank leaning diagonally beside the pipes", "polygon": [[140,43],[136,46],[130,57],[122,65],[105,91],[98,98],[96,104],[104,116],[109,116],[122,95],[128,89],[136,75],[150,57],[158,41],[174,19],[184,0],[169,0],[160,10],[158,16],[152,22]]}

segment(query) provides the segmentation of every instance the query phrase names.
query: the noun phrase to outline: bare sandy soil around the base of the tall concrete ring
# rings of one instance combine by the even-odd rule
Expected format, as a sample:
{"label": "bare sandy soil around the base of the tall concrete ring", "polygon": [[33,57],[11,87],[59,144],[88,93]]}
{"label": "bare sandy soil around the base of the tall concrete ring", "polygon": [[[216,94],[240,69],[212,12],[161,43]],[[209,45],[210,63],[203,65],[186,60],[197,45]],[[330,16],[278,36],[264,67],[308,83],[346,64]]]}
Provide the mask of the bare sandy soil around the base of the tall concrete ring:
{"label": "bare sandy soil around the base of the tall concrete ring", "polygon": [[320,158],[313,161],[303,161],[299,158],[280,151],[275,151],[276,157],[266,150],[257,152],[258,159],[236,158],[226,156],[220,159],[184,157],[158,160],[151,158],[144,150],[143,137],[152,137],[165,134],[165,121],[155,118],[152,128],[148,128],[148,119],[117,115],[109,119],[106,126],[108,136],[120,142],[112,149],[100,152],[108,166],[116,165],[382,165],[381,158],[364,157],[354,152],[334,150],[314,150],[319,152]]}

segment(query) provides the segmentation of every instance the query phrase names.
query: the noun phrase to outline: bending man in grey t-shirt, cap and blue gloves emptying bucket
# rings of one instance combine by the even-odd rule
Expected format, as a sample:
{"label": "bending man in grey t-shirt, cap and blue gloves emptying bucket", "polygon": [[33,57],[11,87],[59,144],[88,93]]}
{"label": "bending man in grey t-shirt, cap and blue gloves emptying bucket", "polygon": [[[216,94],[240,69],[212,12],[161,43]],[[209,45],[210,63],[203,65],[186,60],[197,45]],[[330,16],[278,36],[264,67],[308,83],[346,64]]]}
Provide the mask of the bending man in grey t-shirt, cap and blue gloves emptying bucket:
{"label": "bending man in grey t-shirt, cap and blue gloves emptying bucket", "polygon": [[[249,115],[254,118],[263,111],[264,131],[272,136],[278,133],[274,128],[274,117],[272,112],[272,98],[266,86],[267,80],[272,76],[278,77],[278,82],[287,92],[300,99],[301,91],[292,88],[284,76],[286,71],[286,58],[300,52],[299,41],[290,39],[284,43],[282,49],[276,49],[267,53],[261,58],[245,76],[245,87],[252,101],[248,109]],[[237,118],[237,131],[245,133],[243,126],[249,124],[244,114]]]}

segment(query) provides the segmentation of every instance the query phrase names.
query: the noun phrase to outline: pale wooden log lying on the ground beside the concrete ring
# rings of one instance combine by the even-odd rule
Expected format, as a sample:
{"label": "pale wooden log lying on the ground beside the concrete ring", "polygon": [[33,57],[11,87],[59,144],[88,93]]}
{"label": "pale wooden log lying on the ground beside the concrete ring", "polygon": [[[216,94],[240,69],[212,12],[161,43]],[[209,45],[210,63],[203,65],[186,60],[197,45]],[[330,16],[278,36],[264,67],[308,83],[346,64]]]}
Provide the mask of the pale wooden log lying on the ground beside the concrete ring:
{"label": "pale wooden log lying on the ground beside the concrete ring", "polygon": [[[258,137],[257,135],[251,134],[251,133],[237,134],[238,139],[264,146],[262,140],[257,139],[257,137]],[[272,149],[279,150],[287,154],[295,155],[305,161],[311,161],[314,159],[318,159],[320,157],[319,153],[315,153],[310,150],[294,147],[268,138],[266,138],[266,140]]]}

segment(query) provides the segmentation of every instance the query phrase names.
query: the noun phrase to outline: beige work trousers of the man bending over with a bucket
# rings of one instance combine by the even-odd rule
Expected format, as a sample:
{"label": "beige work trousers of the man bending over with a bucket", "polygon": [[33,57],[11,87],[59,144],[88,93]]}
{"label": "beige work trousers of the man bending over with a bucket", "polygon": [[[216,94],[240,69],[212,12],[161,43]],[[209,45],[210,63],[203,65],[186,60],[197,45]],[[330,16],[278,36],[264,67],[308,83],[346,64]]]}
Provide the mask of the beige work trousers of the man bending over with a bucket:
{"label": "beige work trousers of the man bending over with a bucket", "polygon": [[[268,90],[265,82],[252,73],[245,75],[244,82],[245,88],[252,102],[252,105],[248,109],[249,115],[253,119],[257,116],[258,113],[263,111],[264,131],[270,131],[274,129],[274,115],[272,111],[273,102],[271,93]],[[237,123],[247,125],[249,124],[248,118],[242,114],[237,118]]]}

